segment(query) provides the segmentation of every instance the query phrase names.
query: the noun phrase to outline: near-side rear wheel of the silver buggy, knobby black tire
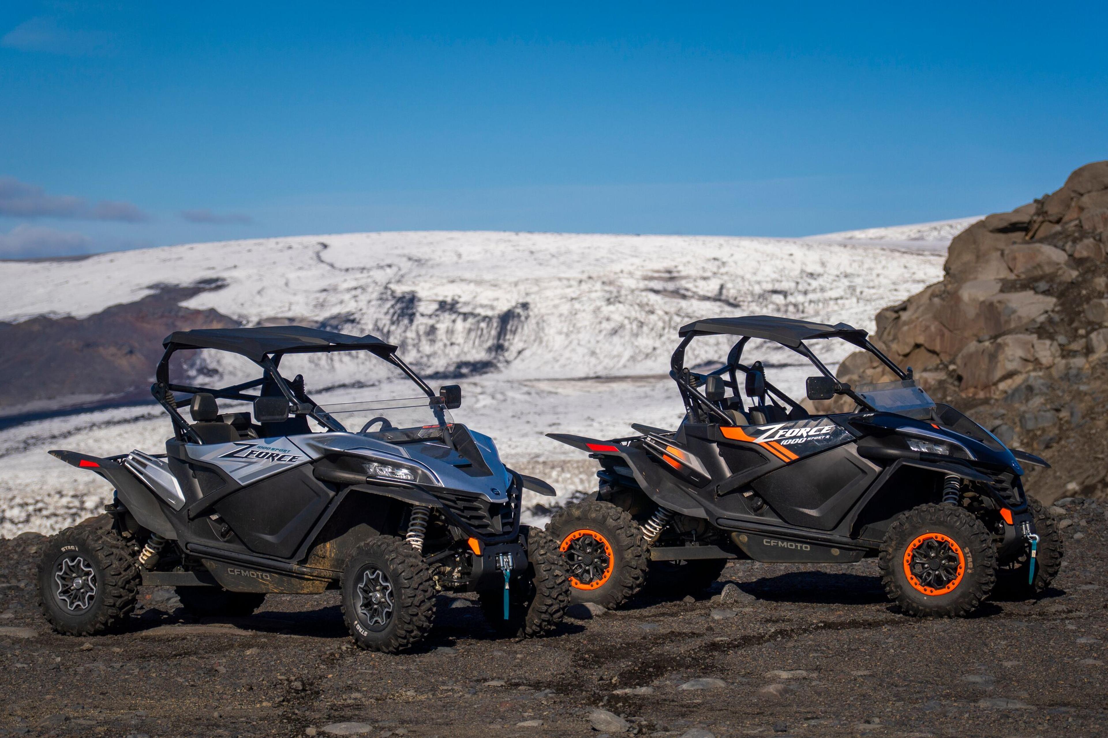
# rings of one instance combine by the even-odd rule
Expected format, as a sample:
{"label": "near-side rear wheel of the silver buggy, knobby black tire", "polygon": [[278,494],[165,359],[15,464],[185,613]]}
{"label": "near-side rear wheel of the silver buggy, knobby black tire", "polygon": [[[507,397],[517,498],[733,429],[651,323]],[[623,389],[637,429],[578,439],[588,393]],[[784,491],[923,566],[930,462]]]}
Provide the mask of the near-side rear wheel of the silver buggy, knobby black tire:
{"label": "near-side rear wheel of the silver buggy, knobby black tire", "polygon": [[39,606],[63,635],[120,630],[138,597],[138,563],[110,527],[86,524],[52,536],[39,559]]}

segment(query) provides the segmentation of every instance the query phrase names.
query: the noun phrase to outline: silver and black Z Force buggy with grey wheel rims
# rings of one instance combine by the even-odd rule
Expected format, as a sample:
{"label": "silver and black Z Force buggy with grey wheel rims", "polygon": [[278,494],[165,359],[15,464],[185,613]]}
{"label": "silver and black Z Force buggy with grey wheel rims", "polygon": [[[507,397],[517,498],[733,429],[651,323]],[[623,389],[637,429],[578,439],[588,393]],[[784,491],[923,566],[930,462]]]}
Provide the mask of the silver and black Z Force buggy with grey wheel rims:
{"label": "silver and black Z Force buggy with grey wheel rims", "polygon": [[[173,422],[165,454],[51,451],[115,488],[101,524],[63,530],[43,551],[42,610],[59,632],[121,625],[141,584],[175,586],[186,609],[208,615],[249,614],[268,592],[341,589],[358,645],[390,653],[427,635],[440,591],[475,591],[490,623],[512,635],[562,620],[570,592],[557,544],[520,524],[523,488],[553,490],[453,422],[456,385],[435,394],[372,335],[197,330],[164,345],[152,392]],[[195,350],[238,354],[261,376],[222,389],[171,382],[174,354]],[[319,404],[302,376],[280,374],[290,355],[334,352],[383,360],[418,396]],[[217,401],[246,412],[220,413]]]}

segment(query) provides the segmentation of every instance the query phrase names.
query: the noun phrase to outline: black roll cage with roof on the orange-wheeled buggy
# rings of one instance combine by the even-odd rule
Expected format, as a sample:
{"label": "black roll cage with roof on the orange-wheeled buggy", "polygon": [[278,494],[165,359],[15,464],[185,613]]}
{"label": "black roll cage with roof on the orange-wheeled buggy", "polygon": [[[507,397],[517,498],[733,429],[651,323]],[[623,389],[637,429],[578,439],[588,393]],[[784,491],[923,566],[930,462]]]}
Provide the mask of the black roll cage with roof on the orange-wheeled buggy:
{"label": "black roll cage with roof on the orange-wheeled buggy", "polygon": [[[772,341],[808,358],[808,361],[810,361],[815,368],[819,370],[820,374],[831,380],[835,394],[845,395],[853,399],[860,407],[869,410],[874,410],[876,408],[874,408],[863,397],[859,396],[849,384],[839,382],[834,374],[832,374],[827,365],[820,361],[820,358],[812,352],[804,341],[818,339],[842,339],[843,341],[852,343],[859,349],[876,356],[882,364],[884,364],[901,380],[912,378],[911,370],[907,372],[901,370],[900,366],[897,366],[891,358],[885,356],[885,354],[883,354],[876,346],[873,345],[873,343],[870,342],[866,337],[865,331],[848,325],[847,323],[828,325],[823,323],[812,323],[809,321],[774,318],[770,315],[719,318],[697,321],[695,323],[684,325],[680,331],[678,331],[678,335],[683,337],[680,344],[678,344],[669,360],[669,376],[677,383],[681,401],[685,403],[685,409],[689,416],[701,423],[719,423],[728,426],[739,425],[735,417],[726,413],[720,406],[722,401],[710,399],[705,393],[700,392],[698,387],[705,386],[708,383],[708,377],[720,377],[722,385],[725,387],[730,387],[733,393],[733,397],[731,398],[731,409],[745,412],[746,406],[742,403],[742,391],[739,388],[738,381],[738,374],[740,372],[747,380],[745,383],[747,386],[750,384],[749,381],[751,375],[761,375],[760,381],[757,382],[756,385],[763,387],[761,393],[763,403],[766,398],[769,398],[770,402],[776,404],[772,399],[776,397],[791,408],[788,410],[790,419],[808,417],[808,412],[798,402],[789,397],[765,378],[761,362],[755,362],[751,366],[747,366],[740,362],[742,357],[742,350],[746,347],[750,339]],[[739,340],[728,352],[727,362],[724,366],[720,366],[708,374],[696,374],[685,366],[686,347],[688,347],[693,339],[701,335],[739,336]],[[749,389],[747,391],[747,395],[753,396],[750,394]]]}

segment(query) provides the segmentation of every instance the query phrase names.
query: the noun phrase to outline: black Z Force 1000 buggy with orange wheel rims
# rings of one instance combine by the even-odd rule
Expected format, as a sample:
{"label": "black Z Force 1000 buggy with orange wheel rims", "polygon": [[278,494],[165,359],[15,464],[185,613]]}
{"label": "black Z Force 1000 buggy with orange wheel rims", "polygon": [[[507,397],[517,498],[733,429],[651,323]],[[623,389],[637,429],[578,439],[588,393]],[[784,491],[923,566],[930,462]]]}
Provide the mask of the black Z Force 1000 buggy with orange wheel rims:
{"label": "black Z Force 1000 buggy with orange wheel rims", "polygon": [[[756,315],[697,321],[679,335],[670,376],[686,416],[677,430],[633,425],[640,435],[609,440],[550,434],[601,465],[599,490],[547,526],[575,601],[618,606],[648,574],[671,591],[702,590],[729,559],[879,557],[903,612],[962,616],[994,586],[1034,596],[1057,574],[1061,539],[1020,481],[1022,464],[1046,461],[936,405],[865,331]],[[722,366],[694,373],[685,350],[706,335],[737,342]],[[741,363],[751,339],[815,366],[809,399],[845,395],[854,412],[809,413],[767,381],[761,362]],[[897,378],[840,383],[804,343],[828,339],[870,352]]]}

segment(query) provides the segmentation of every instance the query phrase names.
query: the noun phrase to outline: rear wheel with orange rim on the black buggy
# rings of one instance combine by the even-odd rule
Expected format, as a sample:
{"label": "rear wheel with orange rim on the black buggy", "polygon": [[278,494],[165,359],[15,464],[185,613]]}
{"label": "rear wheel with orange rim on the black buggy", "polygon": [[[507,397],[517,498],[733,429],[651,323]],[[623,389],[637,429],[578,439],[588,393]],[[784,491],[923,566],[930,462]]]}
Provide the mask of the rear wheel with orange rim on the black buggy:
{"label": "rear wheel with orange rim on the black buggy", "polygon": [[555,512],[546,532],[565,559],[571,602],[615,609],[643,589],[643,529],[626,510],[599,500],[576,502]]}

